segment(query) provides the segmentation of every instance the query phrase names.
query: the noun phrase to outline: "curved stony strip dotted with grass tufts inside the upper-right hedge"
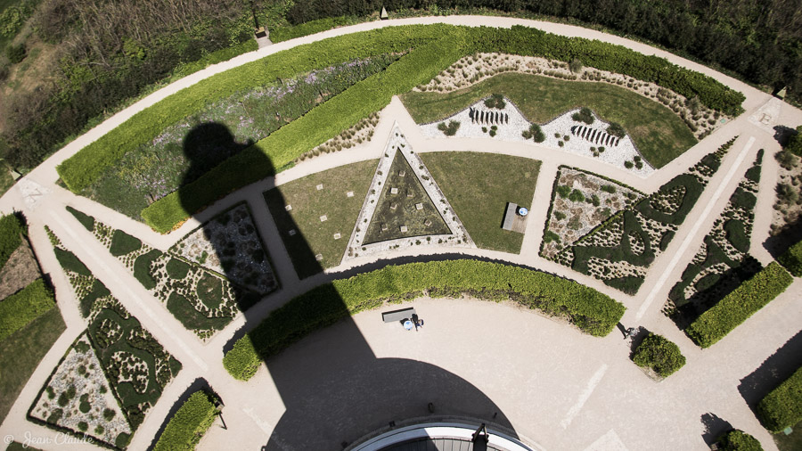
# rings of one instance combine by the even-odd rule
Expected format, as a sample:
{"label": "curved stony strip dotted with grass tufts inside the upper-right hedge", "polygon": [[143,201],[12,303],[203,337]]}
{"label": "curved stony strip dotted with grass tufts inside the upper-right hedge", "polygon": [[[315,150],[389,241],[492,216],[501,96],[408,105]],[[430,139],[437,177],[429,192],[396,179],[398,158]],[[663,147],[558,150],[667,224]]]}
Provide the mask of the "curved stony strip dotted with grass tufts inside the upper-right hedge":
{"label": "curved stony strip dotted with grass tufts inside the upper-right hedge", "polygon": [[[576,69],[576,68],[575,68]],[[696,99],[687,99],[654,83],[648,83],[626,75],[606,70],[581,67],[572,71],[569,64],[535,56],[519,56],[503,53],[478,53],[465,56],[440,72],[429,84],[417,86],[417,91],[447,93],[475,85],[482,80],[503,72],[537,74],[544,77],[561,78],[595,83],[608,83],[626,88],[643,97],[663,103],[691,127],[697,139],[713,133],[731,118],[702,105]],[[722,121],[724,120],[724,122]]]}

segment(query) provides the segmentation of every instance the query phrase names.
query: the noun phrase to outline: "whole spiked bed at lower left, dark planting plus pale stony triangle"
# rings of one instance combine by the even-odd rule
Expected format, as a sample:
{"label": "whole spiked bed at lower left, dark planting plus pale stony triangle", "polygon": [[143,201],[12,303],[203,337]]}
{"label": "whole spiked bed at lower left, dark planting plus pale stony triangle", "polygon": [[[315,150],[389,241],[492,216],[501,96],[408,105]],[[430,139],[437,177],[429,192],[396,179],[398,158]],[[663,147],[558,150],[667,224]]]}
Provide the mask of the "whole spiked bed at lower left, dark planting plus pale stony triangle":
{"label": "whole spiked bed at lower left, dark planting plus pale stony triangle", "polygon": [[[125,447],[182,365],[50,229],[46,231],[88,328],[56,368],[29,415]],[[58,406],[53,406],[53,399]]]}

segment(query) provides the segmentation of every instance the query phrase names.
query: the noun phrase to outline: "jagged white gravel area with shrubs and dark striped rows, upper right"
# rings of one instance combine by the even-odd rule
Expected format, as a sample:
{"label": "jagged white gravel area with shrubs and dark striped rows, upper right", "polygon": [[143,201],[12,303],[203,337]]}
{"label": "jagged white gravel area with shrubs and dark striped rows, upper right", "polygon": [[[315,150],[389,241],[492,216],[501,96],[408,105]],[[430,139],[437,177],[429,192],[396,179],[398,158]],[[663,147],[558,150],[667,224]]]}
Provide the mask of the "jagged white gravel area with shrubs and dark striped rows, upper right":
{"label": "jagged white gravel area with shrubs and dark striped rows, upper right", "polygon": [[[610,126],[610,124],[602,121],[595,114],[593,114],[593,117],[595,118],[595,120],[593,120],[593,124],[586,125],[584,122],[577,122],[576,120],[571,119],[571,116],[579,111],[578,109],[568,111],[561,116],[558,116],[556,119],[552,119],[551,122],[541,125],[540,127],[545,135],[545,141],[543,143],[535,143],[533,140],[525,139],[523,135],[521,135],[522,132],[528,130],[529,126],[531,126],[531,122],[524,118],[523,114],[520,113],[518,108],[512,102],[510,102],[509,99],[506,97],[504,98],[506,105],[501,110],[487,108],[484,104],[484,101],[485,100],[482,99],[447,119],[439,120],[438,122],[432,122],[430,124],[421,124],[421,132],[423,135],[430,138],[444,138],[446,135],[442,131],[438,130],[438,125],[441,122],[445,122],[447,124],[452,120],[456,120],[460,123],[460,127],[457,129],[454,137],[491,138],[501,141],[522,141],[532,143],[533,145],[542,145],[551,149],[576,153],[578,155],[592,158],[593,160],[600,160],[617,168],[628,170],[637,176],[641,176],[642,178],[651,176],[651,174],[655,172],[655,168],[653,168],[646,160],[642,160],[642,168],[640,169],[636,168],[635,166],[633,166],[633,168],[626,168],[626,161],[634,163],[635,157],[640,157],[642,159],[641,153],[635,148],[634,143],[632,142],[632,139],[630,139],[629,135],[624,136],[620,140],[617,139],[617,144],[605,145],[601,143],[601,140],[607,141],[606,138],[608,135],[606,134],[605,130],[608,126]],[[482,120],[477,121],[471,119],[471,116],[477,112],[479,113],[479,118],[481,118],[481,114],[483,112],[485,113],[486,117],[488,114],[493,114],[494,120],[485,120],[482,122]],[[497,113],[501,113],[503,115],[503,120],[495,121],[495,114]],[[489,132],[491,131],[491,127],[494,125],[497,128],[495,130],[495,136],[491,137]],[[482,127],[487,129],[487,131],[483,131]],[[580,127],[589,128],[589,130],[585,130],[585,128]],[[571,131],[572,128],[574,128],[573,132]],[[581,135],[585,135],[585,138],[578,135],[580,132]],[[593,132],[595,132],[595,134],[593,134]],[[560,138],[557,138],[555,134],[559,134]],[[569,136],[568,141],[563,139],[566,135]],[[587,139],[587,136],[589,135],[593,135],[593,141]],[[562,147],[559,144],[560,142],[563,143]],[[600,152],[599,156],[594,157],[591,147],[598,148],[600,146],[604,147],[605,151]]]}

